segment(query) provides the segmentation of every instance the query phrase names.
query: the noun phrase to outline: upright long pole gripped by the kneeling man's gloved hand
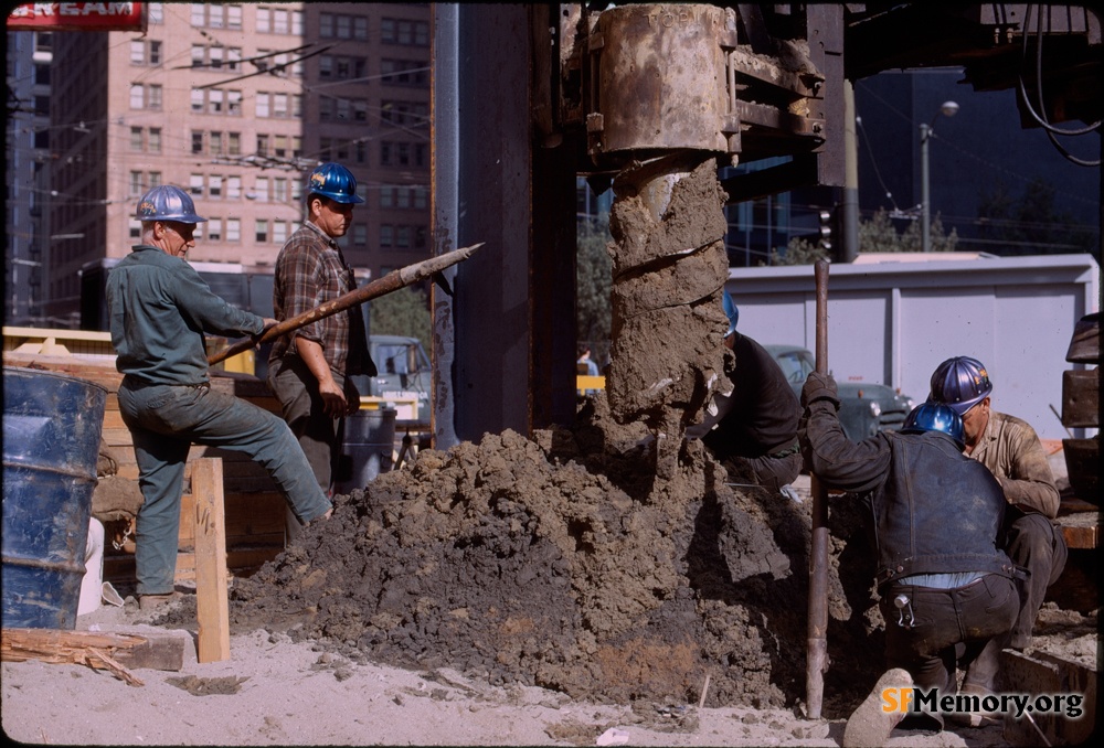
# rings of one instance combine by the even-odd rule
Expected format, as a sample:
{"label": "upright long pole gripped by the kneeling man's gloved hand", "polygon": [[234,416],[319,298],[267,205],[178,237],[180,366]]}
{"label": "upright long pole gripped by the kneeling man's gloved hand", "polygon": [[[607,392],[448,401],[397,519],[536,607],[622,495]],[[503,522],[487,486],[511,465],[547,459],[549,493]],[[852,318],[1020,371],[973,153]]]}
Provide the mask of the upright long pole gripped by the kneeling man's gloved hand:
{"label": "upright long pole gripped by the kneeling man's gloved hand", "polygon": [[[828,373],[828,263],[814,269],[817,288],[817,373]],[[809,719],[820,718],[824,674],[828,671],[828,491],[811,477],[813,537],[809,549],[808,659],[805,670]]]}

